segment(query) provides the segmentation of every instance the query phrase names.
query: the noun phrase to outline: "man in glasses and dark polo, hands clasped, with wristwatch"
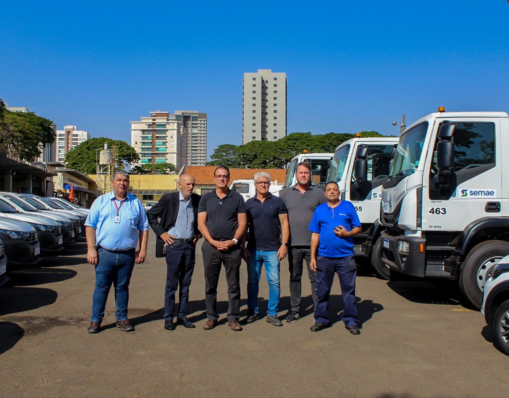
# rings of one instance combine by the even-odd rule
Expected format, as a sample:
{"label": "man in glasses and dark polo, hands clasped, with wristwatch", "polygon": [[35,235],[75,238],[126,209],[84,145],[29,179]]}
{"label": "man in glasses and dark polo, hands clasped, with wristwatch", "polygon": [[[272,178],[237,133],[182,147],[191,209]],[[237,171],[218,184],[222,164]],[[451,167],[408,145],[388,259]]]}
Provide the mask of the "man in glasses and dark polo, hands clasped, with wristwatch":
{"label": "man in glasses and dark polo, hands clasped, with wristwatch", "polygon": [[228,326],[240,331],[240,262],[241,247],[239,241],[246,232],[246,207],[244,199],[228,188],[230,170],[218,166],[214,170],[216,189],[202,196],[198,207],[198,228],[205,238],[202,245],[203,265],[205,269],[205,304],[207,322],[205,330],[217,325],[217,282],[224,266],[228,284]]}

